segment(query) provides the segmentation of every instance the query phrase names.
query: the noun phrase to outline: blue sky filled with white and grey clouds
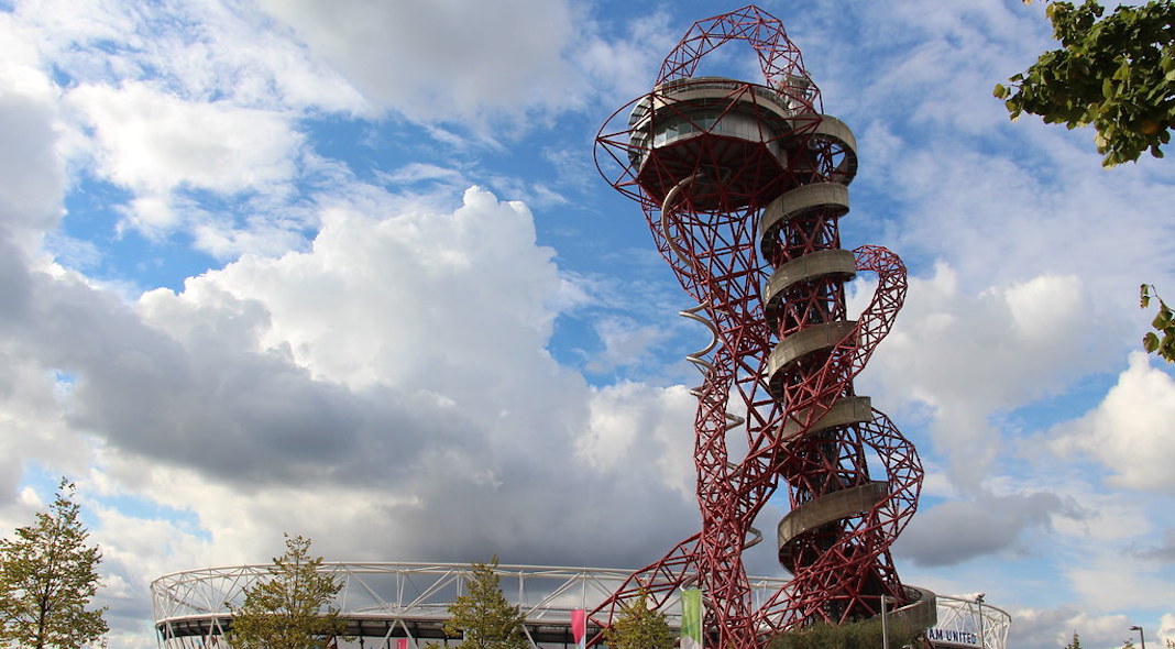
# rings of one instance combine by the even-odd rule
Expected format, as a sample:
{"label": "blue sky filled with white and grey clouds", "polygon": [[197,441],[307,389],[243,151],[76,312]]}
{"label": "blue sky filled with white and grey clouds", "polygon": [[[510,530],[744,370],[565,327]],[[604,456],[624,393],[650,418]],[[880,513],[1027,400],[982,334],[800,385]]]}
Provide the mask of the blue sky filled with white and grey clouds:
{"label": "blue sky filled with white and grey clouds", "polygon": [[[592,146],[739,6],[0,0],[0,535],[74,481],[114,648],[155,645],[153,578],[283,533],[659,558],[698,528],[706,336]],[[1040,2],[760,7],[857,135],[846,247],[909,267],[857,381],[927,473],[902,581],[986,593],[1015,649],[1175,640],[1175,373],[1137,300],[1175,297],[1175,163],[1008,120]],[[699,73],[753,80],[720,52]]]}

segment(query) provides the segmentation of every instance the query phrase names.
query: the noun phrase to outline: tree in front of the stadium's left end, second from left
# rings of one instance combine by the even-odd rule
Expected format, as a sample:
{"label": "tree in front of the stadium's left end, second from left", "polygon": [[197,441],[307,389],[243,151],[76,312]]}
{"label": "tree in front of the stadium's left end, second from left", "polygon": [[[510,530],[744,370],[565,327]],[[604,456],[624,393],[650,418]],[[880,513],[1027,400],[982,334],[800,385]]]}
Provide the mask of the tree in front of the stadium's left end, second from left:
{"label": "tree in front of the stadium's left end, second from left", "polygon": [[323,649],[347,629],[329,607],[343,583],[320,571],[322,557],[310,556],[309,538],[284,536],[286,554],[274,557],[269,578],[246,589],[241,608],[228,604],[236,649]]}

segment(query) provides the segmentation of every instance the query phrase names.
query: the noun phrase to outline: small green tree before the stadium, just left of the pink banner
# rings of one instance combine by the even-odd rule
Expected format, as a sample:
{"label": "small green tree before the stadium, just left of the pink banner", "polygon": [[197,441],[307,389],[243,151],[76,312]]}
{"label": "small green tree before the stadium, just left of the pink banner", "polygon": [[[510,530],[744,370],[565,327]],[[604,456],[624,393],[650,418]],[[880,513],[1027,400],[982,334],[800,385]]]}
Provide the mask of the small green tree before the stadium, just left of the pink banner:
{"label": "small green tree before the stadium, just left of the pink banner", "polygon": [[449,605],[444,633],[461,636],[457,649],[526,649],[523,635],[526,616],[502,594],[501,577],[495,573],[498,557],[489,563],[471,563],[465,593]]}

